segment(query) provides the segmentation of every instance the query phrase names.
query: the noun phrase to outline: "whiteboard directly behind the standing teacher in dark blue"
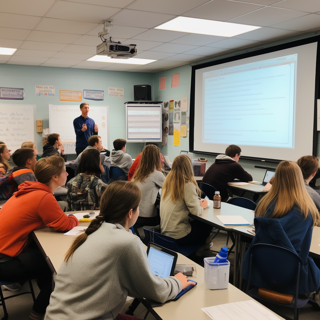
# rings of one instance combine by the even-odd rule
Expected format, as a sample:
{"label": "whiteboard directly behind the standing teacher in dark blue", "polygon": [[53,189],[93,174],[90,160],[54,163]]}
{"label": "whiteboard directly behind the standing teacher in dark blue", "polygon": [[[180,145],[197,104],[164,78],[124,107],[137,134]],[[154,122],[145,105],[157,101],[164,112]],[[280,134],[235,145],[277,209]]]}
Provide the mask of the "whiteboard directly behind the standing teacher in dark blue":
{"label": "whiteboard directly behind the standing teacher in dark blue", "polygon": [[[79,105],[58,106],[49,104],[49,132],[60,134],[66,154],[76,153],[76,133],[73,128],[73,120],[80,115]],[[101,137],[103,147],[109,149],[109,106],[90,106],[88,116],[98,125],[98,135]]]}

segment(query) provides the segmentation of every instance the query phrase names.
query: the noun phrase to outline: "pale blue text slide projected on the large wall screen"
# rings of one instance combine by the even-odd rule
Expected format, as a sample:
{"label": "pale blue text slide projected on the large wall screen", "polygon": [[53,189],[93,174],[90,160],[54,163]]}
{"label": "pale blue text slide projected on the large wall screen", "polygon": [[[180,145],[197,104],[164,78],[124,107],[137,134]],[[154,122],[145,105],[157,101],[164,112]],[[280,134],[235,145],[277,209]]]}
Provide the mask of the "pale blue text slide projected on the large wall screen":
{"label": "pale blue text slide projected on the large wall screen", "polygon": [[203,73],[203,143],[294,148],[298,54]]}

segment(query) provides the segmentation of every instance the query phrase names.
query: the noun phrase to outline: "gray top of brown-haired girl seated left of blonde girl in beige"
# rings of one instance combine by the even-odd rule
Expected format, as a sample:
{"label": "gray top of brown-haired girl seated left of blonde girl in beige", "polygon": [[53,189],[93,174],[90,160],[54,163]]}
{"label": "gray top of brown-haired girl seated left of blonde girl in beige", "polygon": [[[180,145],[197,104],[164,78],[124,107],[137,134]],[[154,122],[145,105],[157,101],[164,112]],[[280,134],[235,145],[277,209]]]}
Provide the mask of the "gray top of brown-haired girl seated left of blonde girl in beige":
{"label": "gray top of brown-haired girl seated left of blonde girl in beige", "polygon": [[164,183],[164,179],[164,174],[155,170],[148,175],[144,183],[139,181],[135,182],[141,190],[141,203],[139,206],[140,217],[150,218],[157,215],[155,202],[159,189],[162,188]]}

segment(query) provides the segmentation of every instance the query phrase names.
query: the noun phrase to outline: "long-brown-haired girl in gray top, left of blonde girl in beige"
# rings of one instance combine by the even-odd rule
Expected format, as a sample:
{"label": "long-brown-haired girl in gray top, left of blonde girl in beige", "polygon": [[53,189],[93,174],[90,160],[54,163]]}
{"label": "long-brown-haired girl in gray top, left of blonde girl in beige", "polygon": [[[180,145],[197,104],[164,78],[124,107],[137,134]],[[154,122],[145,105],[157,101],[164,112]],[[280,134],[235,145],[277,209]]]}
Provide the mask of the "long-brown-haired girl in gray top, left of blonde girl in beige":
{"label": "long-brown-haired girl in gray top, left of blonde girl in beige", "polygon": [[164,183],[164,178],[164,174],[161,172],[160,150],[150,144],[144,148],[138,168],[132,178],[132,182],[140,188],[142,194],[137,228],[160,224],[155,202],[159,189]]}

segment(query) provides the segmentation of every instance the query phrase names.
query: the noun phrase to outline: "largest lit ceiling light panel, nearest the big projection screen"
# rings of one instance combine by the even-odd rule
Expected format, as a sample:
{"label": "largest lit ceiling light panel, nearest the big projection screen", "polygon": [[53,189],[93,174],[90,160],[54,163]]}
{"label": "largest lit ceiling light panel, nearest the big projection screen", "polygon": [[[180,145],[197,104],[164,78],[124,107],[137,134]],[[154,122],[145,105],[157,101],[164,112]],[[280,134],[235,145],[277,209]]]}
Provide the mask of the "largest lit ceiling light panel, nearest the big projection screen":
{"label": "largest lit ceiling light panel, nearest the big projection screen", "polygon": [[173,20],[165,22],[155,29],[198,33],[200,35],[209,36],[233,37],[259,28],[261,27],[239,23],[177,17]]}

